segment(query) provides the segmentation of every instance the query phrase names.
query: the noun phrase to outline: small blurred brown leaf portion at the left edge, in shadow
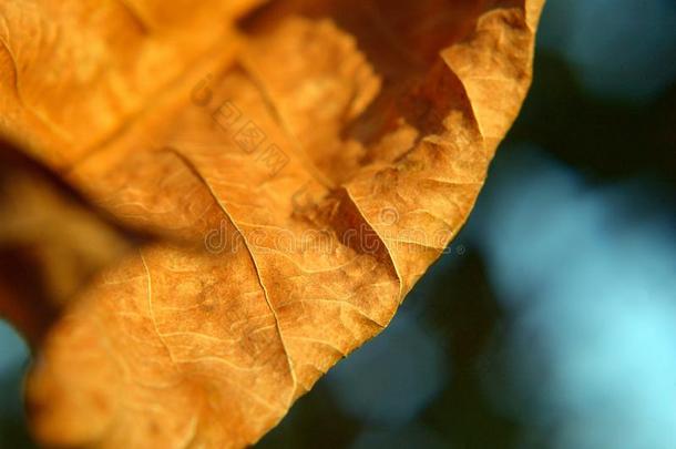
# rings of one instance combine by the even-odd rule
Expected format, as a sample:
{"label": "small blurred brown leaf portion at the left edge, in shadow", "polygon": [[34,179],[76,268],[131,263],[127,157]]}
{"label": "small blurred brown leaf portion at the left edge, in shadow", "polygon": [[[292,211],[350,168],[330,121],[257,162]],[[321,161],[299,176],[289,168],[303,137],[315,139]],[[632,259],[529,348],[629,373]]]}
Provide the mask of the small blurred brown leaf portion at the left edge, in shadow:
{"label": "small blurred brown leaf portion at the left edge, in shadow", "polygon": [[0,141],[0,317],[32,346],[92,276],[147,241]]}

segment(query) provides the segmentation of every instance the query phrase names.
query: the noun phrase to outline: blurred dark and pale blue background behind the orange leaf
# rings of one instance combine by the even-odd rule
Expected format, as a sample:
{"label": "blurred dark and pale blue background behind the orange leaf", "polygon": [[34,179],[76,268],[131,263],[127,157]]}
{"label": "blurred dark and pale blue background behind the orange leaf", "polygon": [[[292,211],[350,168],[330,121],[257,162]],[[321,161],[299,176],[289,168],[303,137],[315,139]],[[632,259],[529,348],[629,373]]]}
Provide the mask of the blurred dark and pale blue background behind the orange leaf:
{"label": "blurred dark and pale blue background behind the orange leaf", "polygon": [[[32,448],[0,323],[0,448]],[[523,113],[392,325],[259,448],[676,448],[676,1],[549,0]]]}

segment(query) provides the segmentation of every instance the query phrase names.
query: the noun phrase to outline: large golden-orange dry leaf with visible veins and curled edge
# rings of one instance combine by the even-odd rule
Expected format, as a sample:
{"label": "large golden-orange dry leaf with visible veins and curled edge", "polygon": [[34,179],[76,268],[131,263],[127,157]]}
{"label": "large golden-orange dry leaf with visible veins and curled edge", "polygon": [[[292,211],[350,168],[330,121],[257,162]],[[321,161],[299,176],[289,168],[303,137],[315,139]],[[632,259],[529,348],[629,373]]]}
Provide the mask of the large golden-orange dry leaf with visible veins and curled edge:
{"label": "large golden-orange dry leaf with visible veins and curled edge", "polygon": [[50,330],[27,382],[37,438],[257,441],[464,223],[541,8],[4,0],[0,133],[164,236]]}

